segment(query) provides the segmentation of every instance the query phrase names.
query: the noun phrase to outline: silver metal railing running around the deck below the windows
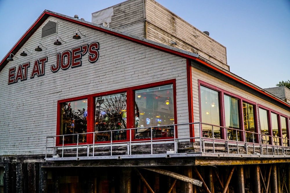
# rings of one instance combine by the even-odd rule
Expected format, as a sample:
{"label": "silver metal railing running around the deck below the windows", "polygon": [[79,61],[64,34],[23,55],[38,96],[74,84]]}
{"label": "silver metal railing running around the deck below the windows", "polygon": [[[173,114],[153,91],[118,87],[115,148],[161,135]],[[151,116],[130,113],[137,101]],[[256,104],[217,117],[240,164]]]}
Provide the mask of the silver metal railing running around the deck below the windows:
{"label": "silver metal railing running around the deck below the windows", "polygon": [[[218,156],[220,154],[228,157],[237,155],[290,157],[290,139],[287,138],[200,122],[171,124],[158,126],[158,128],[172,126],[174,131],[179,132],[179,135],[181,131],[189,131],[192,127],[195,130],[195,137],[177,137],[176,132],[173,131],[173,137],[155,138],[154,129],[157,127],[142,128],[150,130],[149,136],[142,139],[136,138],[140,128],[48,136],[46,137],[45,159],[122,159]],[[126,135],[129,139],[113,140],[116,132],[129,132],[129,135]],[[96,136],[106,136],[107,140],[98,141]],[[75,139],[75,143],[66,144],[65,139],[68,138]]]}

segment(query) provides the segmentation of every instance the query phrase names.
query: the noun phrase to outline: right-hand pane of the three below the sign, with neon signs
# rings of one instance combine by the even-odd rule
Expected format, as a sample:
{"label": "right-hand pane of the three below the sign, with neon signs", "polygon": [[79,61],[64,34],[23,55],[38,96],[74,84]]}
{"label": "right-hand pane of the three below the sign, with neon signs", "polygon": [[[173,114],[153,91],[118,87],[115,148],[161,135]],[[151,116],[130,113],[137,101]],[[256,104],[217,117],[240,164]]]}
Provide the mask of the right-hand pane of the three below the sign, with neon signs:
{"label": "right-hand pane of the three below the sign, with neon signs", "polygon": [[[173,85],[135,91],[135,138],[173,137]],[[155,127],[157,126],[157,127]],[[149,128],[146,128],[149,127]],[[152,129],[152,130],[151,130]]]}

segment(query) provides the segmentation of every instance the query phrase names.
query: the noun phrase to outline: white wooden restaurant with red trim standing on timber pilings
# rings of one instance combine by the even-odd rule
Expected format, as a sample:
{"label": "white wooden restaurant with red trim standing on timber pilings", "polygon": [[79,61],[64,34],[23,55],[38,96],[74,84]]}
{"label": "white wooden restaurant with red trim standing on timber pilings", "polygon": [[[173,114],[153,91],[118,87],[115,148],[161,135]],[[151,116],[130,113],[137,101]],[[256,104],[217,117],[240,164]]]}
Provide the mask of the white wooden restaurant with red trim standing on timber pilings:
{"label": "white wooden restaurant with red trim standing on timber pilings", "polygon": [[290,190],[289,103],[153,0],[45,10],[0,70],[0,192]]}

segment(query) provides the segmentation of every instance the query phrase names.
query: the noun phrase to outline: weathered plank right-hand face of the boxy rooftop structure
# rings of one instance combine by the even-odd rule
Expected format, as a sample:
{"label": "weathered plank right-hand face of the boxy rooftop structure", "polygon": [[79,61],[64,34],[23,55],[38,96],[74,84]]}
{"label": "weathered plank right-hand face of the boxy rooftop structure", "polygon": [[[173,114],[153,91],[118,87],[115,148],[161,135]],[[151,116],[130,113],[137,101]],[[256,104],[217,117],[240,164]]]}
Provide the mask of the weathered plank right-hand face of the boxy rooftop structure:
{"label": "weathered plank right-hand face of the boxy rooftop structure", "polygon": [[[146,0],[147,38],[200,56],[229,70],[226,47],[193,27],[154,0]],[[172,45],[175,41],[177,45]]]}

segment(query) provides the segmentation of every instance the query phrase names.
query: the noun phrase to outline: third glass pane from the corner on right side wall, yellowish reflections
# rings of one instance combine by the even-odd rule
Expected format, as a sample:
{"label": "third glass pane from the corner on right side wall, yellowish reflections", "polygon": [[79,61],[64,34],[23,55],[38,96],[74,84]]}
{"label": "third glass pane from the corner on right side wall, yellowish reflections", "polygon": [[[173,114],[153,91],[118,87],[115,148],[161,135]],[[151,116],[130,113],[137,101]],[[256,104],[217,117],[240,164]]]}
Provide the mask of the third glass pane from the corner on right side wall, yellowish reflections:
{"label": "third glass pane from the corner on right side wall, yellowish reflections", "polygon": [[[244,130],[256,132],[254,119],[254,106],[252,104],[243,102],[243,116],[244,116]],[[253,133],[246,132],[247,142],[254,142],[255,137],[256,136]]]}

